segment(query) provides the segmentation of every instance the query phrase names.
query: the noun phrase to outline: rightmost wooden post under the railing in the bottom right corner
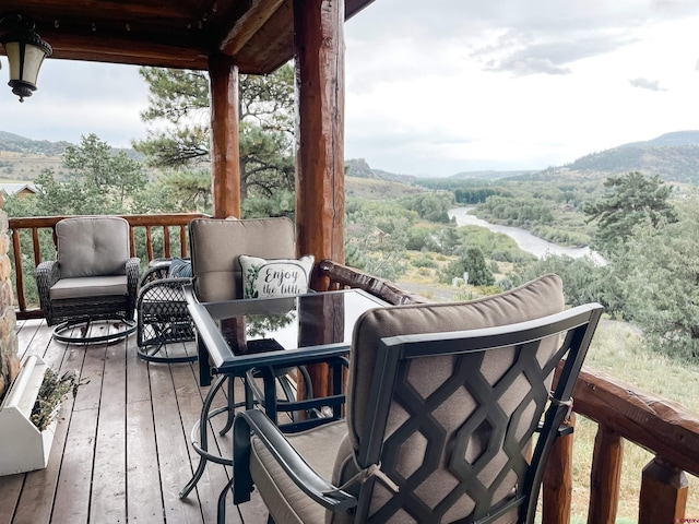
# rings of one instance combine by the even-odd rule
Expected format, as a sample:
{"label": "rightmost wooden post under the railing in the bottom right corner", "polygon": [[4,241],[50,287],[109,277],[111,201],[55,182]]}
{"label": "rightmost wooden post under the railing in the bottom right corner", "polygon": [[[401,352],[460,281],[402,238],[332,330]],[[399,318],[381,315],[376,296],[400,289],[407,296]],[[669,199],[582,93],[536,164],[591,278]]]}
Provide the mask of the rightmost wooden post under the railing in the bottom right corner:
{"label": "rightmost wooden post under the railing in the bottom right corner", "polygon": [[688,486],[685,472],[655,456],[643,468],[638,524],[683,522]]}

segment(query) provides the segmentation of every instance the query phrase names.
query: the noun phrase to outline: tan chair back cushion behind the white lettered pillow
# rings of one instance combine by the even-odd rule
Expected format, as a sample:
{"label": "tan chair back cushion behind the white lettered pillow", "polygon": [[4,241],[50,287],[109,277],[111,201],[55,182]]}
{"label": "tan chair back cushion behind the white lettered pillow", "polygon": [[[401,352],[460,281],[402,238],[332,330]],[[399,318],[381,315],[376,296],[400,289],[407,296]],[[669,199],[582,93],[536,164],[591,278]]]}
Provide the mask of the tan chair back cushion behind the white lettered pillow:
{"label": "tan chair back cushion behind the white lettered pillow", "polygon": [[286,217],[230,221],[196,218],[189,224],[194,293],[203,302],[242,298],[238,257],[296,257],[294,224]]}

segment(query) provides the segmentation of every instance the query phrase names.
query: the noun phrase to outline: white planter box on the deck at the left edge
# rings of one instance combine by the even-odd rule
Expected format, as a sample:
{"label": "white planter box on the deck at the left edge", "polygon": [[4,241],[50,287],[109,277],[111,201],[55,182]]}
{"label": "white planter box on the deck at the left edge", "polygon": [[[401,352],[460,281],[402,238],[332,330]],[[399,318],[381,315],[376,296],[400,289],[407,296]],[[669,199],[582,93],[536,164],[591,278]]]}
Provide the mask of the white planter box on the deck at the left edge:
{"label": "white planter box on the deck at the left edge", "polygon": [[42,469],[48,464],[56,421],[39,431],[29,420],[47,368],[36,355],[28,357],[0,405],[0,475]]}

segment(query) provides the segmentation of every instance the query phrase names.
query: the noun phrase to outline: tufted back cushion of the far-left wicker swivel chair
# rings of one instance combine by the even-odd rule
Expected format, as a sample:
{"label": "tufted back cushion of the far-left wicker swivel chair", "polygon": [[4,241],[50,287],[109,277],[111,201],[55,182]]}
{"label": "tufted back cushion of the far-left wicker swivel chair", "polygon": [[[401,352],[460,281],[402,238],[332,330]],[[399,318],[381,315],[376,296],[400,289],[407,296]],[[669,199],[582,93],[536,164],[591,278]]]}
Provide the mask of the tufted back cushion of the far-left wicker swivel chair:
{"label": "tufted back cushion of the far-left wicker swivel chair", "polygon": [[129,223],[118,216],[76,216],[56,224],[61,278],[125,275]]}

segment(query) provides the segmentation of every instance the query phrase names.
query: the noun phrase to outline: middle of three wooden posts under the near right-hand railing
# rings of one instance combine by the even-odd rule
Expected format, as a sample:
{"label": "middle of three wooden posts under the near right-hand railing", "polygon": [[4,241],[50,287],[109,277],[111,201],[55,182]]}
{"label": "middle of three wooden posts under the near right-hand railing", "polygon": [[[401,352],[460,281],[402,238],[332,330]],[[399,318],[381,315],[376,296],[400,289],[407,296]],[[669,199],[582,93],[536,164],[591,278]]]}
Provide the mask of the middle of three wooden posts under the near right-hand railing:
{"label": "middle of three wooden posts under the near right-hand railing", "polygon": [[621,436],[600,424],[592,454],[588,524],[614,524],[616,521],[623,456]]}

